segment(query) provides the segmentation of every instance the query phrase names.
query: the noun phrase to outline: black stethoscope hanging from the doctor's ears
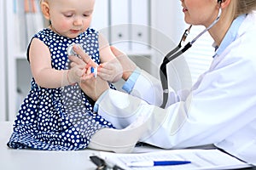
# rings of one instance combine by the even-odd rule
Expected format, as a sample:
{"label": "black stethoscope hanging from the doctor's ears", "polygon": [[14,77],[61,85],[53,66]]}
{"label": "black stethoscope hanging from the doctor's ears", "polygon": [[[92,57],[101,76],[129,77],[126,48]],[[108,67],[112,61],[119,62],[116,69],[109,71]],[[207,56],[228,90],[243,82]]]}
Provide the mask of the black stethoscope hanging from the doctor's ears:
{"label": "black stethoscope hanging from the doctor's ears", "polygon": [[[222,0],[218,0],[218,4],[220,5],[220,3],[222,3]],[[163,88],[163,103],[160,106],[161,108],[166,108],[166,103],[168,100],[168,95],[169,95],[169,89],[168,89],[168,79],[167,79],[167,72],[166,72],[166,65],[172,61],[173,59],[176,59],[178,56],[180,56],[181,54],[183,54],[185,51],[187,51],[189,48],[192,47],[193,43],[195,43],[195,41],[201,37],[205,32],[207,32],[208,30],[210,30],[212,28],[212,26],[214,26],[219,18],[220,15],[222,13],[221,8],[219,8],[218,11],[218,16],[216,18],[216,20],[214,20],[212,22],[212,24],[210,26],[208,26],[204,31],[201,31],[200,34],[198,34],[197,37],[195,37],[191,42],[188,42],[183,48],[182,48],[182,42],[185,42],[186,38],[189,35],[189,31],[192,27],[189,26],[189,28],[187,30],[184,31],[183,33],[183,37],[181,38],[180,42],[178,43],[177,47],[172,49],[172,51],[170,51],[168,54],[166,54],[165,58],[163,59],[162,64],[160,65],[160,80],[162,83],[162,88]],[[182,49],[180,49],[182,48]],[[180,50],[179,50],[180,49]]]}

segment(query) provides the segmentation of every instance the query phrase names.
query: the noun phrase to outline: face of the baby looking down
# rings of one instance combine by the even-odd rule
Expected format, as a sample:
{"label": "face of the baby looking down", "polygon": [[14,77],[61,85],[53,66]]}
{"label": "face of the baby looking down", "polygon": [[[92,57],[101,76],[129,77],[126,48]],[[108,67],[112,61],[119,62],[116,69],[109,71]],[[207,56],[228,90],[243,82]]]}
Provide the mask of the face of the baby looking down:
{"label": "face of the baby looking down", "polygon": [[51,29],[74,38],[90,26],[95,0],[47,0]]}

